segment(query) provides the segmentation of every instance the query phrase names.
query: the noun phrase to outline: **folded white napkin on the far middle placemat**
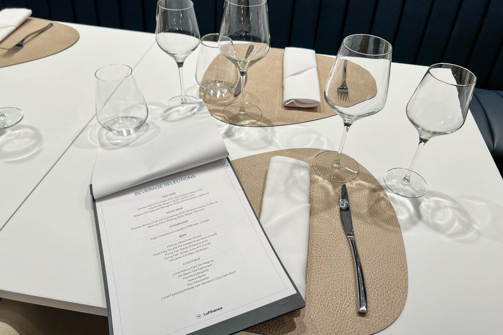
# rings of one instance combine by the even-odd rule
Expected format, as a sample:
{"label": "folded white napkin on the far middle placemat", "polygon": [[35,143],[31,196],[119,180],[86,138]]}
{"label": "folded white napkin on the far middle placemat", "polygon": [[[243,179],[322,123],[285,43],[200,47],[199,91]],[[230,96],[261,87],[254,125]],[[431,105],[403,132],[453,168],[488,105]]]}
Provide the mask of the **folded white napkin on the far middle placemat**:
{"label": "folded white napkin on the far middle placemat", "polygon": [[316,107],[320,102],[318,67],[314,50],[285,48],[283,103],[289,107]]}

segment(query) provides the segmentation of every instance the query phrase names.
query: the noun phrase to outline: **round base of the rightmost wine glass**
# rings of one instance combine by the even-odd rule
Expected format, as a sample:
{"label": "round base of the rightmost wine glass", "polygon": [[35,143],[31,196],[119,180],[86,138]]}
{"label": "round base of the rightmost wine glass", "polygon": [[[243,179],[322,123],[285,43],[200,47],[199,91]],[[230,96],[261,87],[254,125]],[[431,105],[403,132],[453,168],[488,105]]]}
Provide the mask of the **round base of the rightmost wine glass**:
{"label": "round base of the rightmost wine glass", "polygon": [[398,195],[406,198],[418,198],[425,195],[428,185],[423,177],[415,172],[411,172],[410,181],[404,182],[403,177],[408,169],[394,168],[384,174],[384,183],[388,188]]}

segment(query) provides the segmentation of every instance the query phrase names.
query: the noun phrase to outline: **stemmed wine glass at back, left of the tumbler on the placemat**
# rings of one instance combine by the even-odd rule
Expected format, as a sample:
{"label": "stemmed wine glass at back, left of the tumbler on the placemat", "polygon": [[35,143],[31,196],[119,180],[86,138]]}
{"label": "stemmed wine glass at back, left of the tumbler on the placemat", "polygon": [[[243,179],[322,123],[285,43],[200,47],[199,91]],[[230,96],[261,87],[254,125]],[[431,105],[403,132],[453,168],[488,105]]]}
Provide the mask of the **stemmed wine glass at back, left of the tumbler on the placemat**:
{"label": "stemmed wine glass at back, left of the tumbler on the placemat", "polygon": [[159,0],[157,2],[155,41],[168,55],[173,57],[180,74],[181,95],[171,98],[167,107],[198,100],[184,91],[183,66],[185,59],[199,45],[194,3],[190,0]]}

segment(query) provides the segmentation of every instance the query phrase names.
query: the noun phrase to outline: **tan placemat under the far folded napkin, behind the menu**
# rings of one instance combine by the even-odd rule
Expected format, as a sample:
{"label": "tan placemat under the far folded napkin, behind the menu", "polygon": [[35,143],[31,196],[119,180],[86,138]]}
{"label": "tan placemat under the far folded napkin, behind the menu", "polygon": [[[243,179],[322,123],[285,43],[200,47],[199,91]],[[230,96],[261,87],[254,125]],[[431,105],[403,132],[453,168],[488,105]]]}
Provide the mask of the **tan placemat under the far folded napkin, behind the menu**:
{"label": "tan placemat under the far folded napkin, behind the menu", "polygon": [[[293,125],[336,115],[323,98],[323,88],[335,58],[316,55],[321,104],[313,108],[286,107],[283,105],[284,52],[283,49],[271,48],[266,57],[248,70],[244,99],[262,110],[262,120],[248,127]],[[222,58],[222,61],[227,60]],[[241,95],[234,96],[233,89],[223,97],[211,96],[200,89],[199,96],[211,115],[223,122],[223,108],[229,103],[241,101]]]}

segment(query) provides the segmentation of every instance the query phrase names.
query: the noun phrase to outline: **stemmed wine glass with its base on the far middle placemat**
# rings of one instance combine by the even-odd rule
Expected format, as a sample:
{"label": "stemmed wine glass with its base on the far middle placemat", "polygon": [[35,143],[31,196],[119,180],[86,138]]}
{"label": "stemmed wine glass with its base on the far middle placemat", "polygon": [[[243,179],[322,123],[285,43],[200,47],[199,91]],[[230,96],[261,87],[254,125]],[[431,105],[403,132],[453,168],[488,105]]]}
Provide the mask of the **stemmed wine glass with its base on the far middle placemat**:
{"label": "stemmed wine glass with its base on the far middle placemat", "polygon": [[270,40],[267,0],[226,0],[218,48],[241,75],[241,102],[223,109],[228,123],[253,125],[262,118],[258,106],[244,102],[244,80],[248,68],[269,52]]}

